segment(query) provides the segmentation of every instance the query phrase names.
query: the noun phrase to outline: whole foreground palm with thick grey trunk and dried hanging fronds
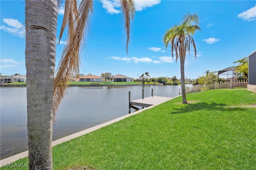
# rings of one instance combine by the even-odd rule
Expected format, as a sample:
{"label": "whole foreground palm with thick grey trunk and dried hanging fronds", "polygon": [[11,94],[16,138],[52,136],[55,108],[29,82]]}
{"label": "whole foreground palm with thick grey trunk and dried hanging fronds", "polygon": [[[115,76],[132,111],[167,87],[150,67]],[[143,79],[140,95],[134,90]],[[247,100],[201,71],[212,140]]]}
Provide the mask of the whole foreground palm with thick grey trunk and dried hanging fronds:
{"label": "whole foreground palm with thick grey trunk and dried hanging fronds", "polygon": [[[59,1],[59,0],[58,0]],[[26,0],[26,77],[29,169],[52,169],[52,121],[66,91],[66,82],[79,74],[79,51],[89,25],[92,0],[66,0],[65,22],[68,40],[55,74],[56,30],[58,3],[56,0]],[[134,14],[133,0],[120,0],[127,34]],[[61,37],[61,36],[60,36]]]}

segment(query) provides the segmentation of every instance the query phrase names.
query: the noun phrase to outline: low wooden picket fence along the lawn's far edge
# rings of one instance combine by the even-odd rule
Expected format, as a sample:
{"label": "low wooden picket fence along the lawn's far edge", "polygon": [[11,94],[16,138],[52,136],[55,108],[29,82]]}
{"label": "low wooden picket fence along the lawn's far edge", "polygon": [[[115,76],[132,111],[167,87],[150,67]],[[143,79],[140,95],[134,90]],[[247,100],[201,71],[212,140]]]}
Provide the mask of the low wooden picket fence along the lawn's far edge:
{"label": "low wooden picket fence along the lawn's far edge", "polygon": [[210,85],[204,85],[204,86],[192,86],[192,87],[186,87],[186,93],[193,93],[193,92],[202,92],[206,90],[212,90],[212,89],[220,89],[220,88],[247,88],[248,81],[236,81],[236,82],[228,82],[228,83],[218,83],[215,82]]}

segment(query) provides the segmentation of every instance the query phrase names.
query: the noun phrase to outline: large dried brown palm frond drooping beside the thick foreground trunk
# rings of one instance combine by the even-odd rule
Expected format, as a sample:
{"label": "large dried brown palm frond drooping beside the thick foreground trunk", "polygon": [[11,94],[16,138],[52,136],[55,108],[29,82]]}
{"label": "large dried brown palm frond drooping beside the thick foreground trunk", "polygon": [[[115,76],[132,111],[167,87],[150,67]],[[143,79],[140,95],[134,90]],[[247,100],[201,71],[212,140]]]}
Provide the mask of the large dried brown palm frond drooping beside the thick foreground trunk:
{"label": "large dried brown palm frond drooping beside the thick foreground trunk", "polygon": [[62,53],[62,58],[54,78],[53,111],[54,116],[62,98],[66,93],[67,82],[71,75],[79,73],[80,45],[84,43],[84,34],[87,31],[92,0],[84,0],[77,9],[76,0],[72,0],[69,13],[68,40]]}

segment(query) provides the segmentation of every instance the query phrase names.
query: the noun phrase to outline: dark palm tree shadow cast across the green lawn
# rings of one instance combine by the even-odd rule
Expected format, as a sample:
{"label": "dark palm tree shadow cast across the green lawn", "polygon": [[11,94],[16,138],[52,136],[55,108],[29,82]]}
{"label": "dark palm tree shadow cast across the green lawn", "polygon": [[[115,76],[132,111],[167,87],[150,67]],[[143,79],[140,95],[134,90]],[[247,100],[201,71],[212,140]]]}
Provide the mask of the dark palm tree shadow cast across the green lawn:
{"label": "dark palm tree shadow cast across the green lawn", "polygon": [[194,104],[182,104],[181,108],[174,108],[174,111],[170,112],[170,114],[180,114],[180,113],[188,113],[190,111],[198,111],[198,110],[208,110],[208,111],[241,111],[245,110],[242,107],[229,107],[226,104],[218,104],[218,103],[194,103]]}

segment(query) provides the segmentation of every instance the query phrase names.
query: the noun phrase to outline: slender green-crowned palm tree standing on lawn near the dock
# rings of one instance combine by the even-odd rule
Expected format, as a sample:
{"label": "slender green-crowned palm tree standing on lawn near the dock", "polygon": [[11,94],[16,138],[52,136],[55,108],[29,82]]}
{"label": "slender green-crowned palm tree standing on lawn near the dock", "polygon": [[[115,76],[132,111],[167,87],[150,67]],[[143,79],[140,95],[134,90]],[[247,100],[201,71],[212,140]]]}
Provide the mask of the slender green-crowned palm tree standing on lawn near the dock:
{"label": "slender green-crowned palm tree standing on lawn near the dock", "polygon": [[[176,63],[180,59],[180,75],[181,75],[181,90],[182,90],[182,103],[186,104],[186,89],[185,89],[185,75],[184,75],[184,63],[186,52],[190,53],[190,45],[194,47],[195,57],[196,57],[196,45],[194,39],[191,35],[194,35],[196,30],[201,30],[198,26],[198,16],[196,14],[186,14],[183,17],[183,22],[180,25],[174,25],[166,31],[164,34],[164,45],[167,49],[168,44],[171,44],[172,58],[173,52],[175,50]],[[195,23],[196,25],[191,25]]]}

